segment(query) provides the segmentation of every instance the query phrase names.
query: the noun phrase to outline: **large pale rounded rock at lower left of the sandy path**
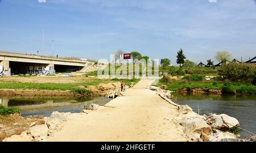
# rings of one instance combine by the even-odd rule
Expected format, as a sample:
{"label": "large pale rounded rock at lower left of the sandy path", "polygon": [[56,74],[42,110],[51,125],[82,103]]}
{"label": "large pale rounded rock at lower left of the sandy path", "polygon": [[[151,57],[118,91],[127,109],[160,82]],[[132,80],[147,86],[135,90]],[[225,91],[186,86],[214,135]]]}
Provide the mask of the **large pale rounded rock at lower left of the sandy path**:
{"label": "large pale rounded rock at lower left of the sandy path", "polygon": [[46,124],[43,125],[35,125],[32,128],[28,129],[28,132],[32,135],[32,137],[47,137],[48,126]]}

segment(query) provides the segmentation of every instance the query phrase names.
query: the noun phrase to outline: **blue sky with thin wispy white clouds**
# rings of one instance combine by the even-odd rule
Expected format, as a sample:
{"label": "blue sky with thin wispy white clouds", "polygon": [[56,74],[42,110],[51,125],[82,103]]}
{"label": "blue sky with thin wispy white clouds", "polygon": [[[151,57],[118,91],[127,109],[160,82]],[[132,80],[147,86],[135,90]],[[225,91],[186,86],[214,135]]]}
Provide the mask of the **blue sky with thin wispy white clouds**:
{"label": "blue sky with thin wispy white clouds", "polygon": [[1,51],[109,59],[122,49],[176,65],[180,48],[196,63],[217,63],[220,50],[256,56],[255,0],[0,0]]}

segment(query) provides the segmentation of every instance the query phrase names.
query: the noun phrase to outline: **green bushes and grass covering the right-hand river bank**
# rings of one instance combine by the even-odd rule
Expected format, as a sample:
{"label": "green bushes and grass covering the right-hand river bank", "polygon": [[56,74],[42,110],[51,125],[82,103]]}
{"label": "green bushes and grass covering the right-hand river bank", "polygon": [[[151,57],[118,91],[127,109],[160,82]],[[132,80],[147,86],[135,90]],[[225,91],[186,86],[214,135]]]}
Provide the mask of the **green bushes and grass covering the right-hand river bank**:
{"label": "green bushes and grass covering the right-hand river bank", "polygon": [[162,63],[158,86],[177,92],[211,94],[256,94],[256,69],[250,63],[223,63],[221,67],[200,67],[186,60],[183,66]]}

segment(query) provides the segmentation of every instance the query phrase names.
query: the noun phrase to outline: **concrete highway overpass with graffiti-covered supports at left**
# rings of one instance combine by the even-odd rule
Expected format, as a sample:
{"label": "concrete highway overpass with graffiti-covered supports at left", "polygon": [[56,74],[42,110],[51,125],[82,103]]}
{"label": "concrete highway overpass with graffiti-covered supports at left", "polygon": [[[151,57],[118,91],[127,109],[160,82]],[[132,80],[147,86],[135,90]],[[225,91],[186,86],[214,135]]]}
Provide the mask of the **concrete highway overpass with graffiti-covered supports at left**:
{"label": "concrete highway overpass with graffiti-covered supports at left", "polygon": [[19,53],[0,52],[0,73],[1,69],[6,75],[27,74],[28,71],[79,71],[84,67],[92,66],[94,62],[78,59],[61,59],[27,55]]}

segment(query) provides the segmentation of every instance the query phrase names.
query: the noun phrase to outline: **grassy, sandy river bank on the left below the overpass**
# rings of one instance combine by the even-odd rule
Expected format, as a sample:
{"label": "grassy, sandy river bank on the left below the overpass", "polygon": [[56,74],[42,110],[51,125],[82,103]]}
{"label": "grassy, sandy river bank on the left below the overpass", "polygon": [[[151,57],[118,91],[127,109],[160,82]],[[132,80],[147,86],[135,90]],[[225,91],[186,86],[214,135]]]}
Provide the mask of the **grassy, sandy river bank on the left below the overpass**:
{"label": "grassy, sandy river bank on the left below the overpass", "polygon": [[[0,96],[105,96],[120,86],[119,79],[97,79],[85,76],[63,77],[21,77],[0,78]],[[125,79],[127,86],[138,79]]]}

